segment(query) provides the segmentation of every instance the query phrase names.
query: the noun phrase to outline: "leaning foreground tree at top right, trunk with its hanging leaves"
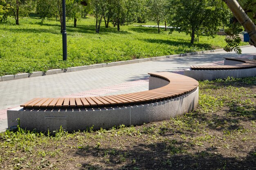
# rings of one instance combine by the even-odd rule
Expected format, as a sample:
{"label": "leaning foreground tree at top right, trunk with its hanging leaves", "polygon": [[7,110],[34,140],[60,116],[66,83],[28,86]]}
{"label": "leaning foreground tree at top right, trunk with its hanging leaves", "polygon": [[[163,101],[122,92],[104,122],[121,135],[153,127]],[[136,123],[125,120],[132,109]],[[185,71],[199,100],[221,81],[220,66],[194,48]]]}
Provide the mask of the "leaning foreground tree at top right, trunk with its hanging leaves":
{"label": "leaning foreground tree at top right, trunk with its hanging leaves", "polygon": [[[240,4],[236,0],[223,0],[229,9],[232,11],[238,22],[243,25],[247,33],[250,35],[249,44],[256,47],[256,26],[255,26],[255,18],[256,18],[256,2],[255,0],[244,0],[240,1],[241,4],[244,4],[245,9],[249,9],[247,12],[249,12],[249,15],[254,18],[254,22],[249,18],[249,16],[245,13],[243,8],[240,6]],[[249,4],[249,5],[248,5]],[[247,6],[248,5],[248,6]],[[250,13],[251,12],[251,13]],[[234,39],[236,40],[236,39]],[[238,46],[238,43],[234,43],[231,41],[231,43],[227,44],[227,51],[232,51],[233,49],[236,50]]]}

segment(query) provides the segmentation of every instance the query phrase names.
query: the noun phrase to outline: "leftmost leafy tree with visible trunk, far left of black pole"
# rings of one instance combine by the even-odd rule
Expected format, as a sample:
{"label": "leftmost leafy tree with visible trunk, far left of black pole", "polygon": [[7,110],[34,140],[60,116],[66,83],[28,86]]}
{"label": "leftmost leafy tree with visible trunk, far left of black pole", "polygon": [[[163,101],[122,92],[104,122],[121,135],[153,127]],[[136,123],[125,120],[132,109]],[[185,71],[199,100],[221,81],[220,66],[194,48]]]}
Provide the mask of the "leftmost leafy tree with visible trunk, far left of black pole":
{"label": "leftmost leafy tree with visible trunk, far left of black pole", "polygon": [[15,18],[16,25],[19,24],[20,16],[27,16],[32,9],[32,0],[6,0],[6,4],[11,6],[9,14]]}

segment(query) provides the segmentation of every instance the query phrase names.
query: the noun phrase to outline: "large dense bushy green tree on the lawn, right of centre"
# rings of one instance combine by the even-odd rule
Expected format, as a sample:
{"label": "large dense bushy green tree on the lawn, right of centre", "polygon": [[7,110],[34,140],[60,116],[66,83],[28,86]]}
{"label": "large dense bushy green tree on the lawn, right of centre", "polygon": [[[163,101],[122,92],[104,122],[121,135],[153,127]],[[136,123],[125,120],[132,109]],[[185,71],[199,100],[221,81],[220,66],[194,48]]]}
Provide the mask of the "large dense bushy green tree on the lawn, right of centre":
{"label": "large dense bushy green tree on the lawn, right of centre", "polygon": [[[171,0],[168,23],[177,31],[191,35],[191,44],[200,35],[214,36],[229,10],[220,0]],[[174,29],[171,29],[171,32]]]}

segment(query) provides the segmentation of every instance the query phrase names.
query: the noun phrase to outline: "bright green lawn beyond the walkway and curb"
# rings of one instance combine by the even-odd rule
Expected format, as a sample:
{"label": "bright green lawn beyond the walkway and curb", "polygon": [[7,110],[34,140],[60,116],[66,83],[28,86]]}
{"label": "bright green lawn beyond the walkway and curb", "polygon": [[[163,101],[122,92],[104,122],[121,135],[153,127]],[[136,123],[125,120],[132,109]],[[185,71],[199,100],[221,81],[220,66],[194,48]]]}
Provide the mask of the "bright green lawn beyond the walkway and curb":
{"label": "bright green lawn beyond the walkway and curb", "polygon": [[[150,23],[152,24],[152,23]],[[190,36],[141,26],[121,26],[120,33],[111,26],[101,33],[94,31],[94,18],[81,19],[76,28],[67,22],[68,60],[62,61],[62,35],[59,22],[36,17],[23,18],[20,25],[9,19],[0,24],[0,76],[16,73],[47,71],[97,63],[132,60],[177,53],[187,53],[225,46],[225,37],[201,37],[190,44]],[[242,43],[246,45],[248,43]]]}

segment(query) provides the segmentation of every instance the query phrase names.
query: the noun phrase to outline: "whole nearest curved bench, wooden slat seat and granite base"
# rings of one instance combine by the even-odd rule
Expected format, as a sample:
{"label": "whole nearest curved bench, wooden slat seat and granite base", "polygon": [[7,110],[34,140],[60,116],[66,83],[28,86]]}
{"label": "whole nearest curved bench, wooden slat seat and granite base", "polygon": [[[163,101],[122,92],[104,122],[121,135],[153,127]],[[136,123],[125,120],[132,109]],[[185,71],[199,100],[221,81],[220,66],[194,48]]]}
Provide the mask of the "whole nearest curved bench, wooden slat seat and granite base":
{"label": "whole nearest curved bench, wooden slat seat and granite base", "polygon": [[149,90],[79,98],[35,98],[7,110],[8,127],[67,131],[141,125],[183,115],[198,104],[198,82],[175,73],[150,73]]}

